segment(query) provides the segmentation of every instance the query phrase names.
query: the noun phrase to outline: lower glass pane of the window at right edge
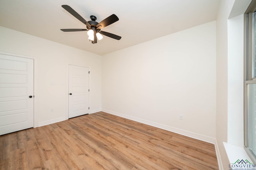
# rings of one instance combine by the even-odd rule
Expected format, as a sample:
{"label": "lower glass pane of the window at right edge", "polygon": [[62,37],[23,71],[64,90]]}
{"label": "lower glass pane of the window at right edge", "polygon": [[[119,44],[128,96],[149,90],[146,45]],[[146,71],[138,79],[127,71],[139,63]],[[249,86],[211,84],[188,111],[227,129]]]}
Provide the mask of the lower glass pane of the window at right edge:
{"label": "lower glass pane of the window at right edge", "polygon": [[248,117],[247,117],[247,145],[256,154],[256,84],[248,84]]}

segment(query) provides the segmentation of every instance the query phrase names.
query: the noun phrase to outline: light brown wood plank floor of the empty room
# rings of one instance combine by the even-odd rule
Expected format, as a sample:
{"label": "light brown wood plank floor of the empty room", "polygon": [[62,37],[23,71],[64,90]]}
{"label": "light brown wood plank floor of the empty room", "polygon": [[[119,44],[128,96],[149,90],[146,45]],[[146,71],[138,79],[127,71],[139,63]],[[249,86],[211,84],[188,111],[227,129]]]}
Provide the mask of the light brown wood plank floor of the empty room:
{"label": "light brown wood plank floor of the empty room", "polygon": [[211,170],[214,145],[98,112],[0,136],[1,170]]}

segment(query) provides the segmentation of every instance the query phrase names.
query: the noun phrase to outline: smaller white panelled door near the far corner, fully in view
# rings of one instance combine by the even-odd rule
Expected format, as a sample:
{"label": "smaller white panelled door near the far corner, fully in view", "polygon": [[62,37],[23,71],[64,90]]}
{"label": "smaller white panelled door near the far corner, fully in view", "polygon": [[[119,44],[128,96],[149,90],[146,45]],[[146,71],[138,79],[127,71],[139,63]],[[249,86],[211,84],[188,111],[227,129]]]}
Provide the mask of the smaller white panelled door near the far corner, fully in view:
{"label": "smaller white panelled door near the far corner, fully in view", "polygon": [[68,118],[89,113],[89,68],[68,66]]}

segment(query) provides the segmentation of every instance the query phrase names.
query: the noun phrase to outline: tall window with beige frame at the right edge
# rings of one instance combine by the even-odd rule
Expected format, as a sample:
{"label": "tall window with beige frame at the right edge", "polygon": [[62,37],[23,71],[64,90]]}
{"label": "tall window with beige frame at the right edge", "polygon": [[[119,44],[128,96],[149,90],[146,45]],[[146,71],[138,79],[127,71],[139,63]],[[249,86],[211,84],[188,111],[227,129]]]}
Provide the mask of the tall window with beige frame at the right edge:
{"label": "tall window with beige frame at the right edge", "polygon": [[256,0],[245,15],[244,148],[256,162]]}

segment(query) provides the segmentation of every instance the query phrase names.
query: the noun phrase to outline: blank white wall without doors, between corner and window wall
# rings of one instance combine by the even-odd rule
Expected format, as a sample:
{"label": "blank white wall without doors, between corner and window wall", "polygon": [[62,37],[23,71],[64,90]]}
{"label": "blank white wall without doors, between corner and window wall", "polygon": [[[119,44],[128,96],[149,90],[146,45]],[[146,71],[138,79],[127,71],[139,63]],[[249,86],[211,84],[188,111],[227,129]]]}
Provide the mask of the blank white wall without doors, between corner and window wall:
{"label": "blank white wall without doors, between corner and window wall", "polygon": [[212,142],[216,22],[102,56],[102,110]]}

